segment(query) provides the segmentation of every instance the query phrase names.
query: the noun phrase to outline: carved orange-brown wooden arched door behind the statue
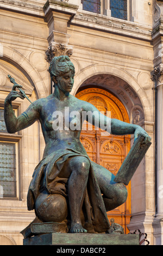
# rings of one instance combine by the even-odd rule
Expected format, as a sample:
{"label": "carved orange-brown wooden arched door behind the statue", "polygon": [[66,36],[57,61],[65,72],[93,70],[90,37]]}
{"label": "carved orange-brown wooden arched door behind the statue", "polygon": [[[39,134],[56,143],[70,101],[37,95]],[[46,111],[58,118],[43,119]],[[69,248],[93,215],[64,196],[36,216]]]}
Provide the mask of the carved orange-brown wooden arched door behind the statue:
{"label": "carved orange-brown wooden arched door behind the statue", "polygon": [[[110,112],[111,118],[116,118],[129,123],[128,113],[122,102],[114,95],[103,89],[89,88],[79,92],[76,97],[80,100],[90,102],[99,111]],[[81,142],[89,155],[90,159],[101,164],[114,175],[120,169],[121,164],[127,156],[130,149],[130,136],[107,135],[102,130],[91,130],[89,124],[84,123],[80,136]],[[126,203],[118,208],[107,212],[108,218],[114,218],[115,222],[121,224],[124,233],[129,233],[127,224],[130,222],[131,206],[130,206],[130,183],[127,186],[128,198]]]}

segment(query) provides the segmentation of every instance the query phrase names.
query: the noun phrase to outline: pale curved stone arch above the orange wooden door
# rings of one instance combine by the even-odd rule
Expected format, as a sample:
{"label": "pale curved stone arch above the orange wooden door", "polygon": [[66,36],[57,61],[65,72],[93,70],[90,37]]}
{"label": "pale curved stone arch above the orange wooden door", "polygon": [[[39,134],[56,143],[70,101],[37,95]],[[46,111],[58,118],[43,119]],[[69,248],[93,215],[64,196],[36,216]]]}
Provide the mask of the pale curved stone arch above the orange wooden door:
{"label": "pale curved stone arch above the orange wooden door", "polygon": [[[140,107],[141,111],[143,112],[143,118],[144,120],[148,121],[148,122],[153,122],[153,115],[151,115],[151,111],[153,109],[152,103],[151,101],[149,101],[149,97],[146,93],[146,90],[144,90],[142,88],[142,86],[139,83],[139,75],[131,75],[129,72],[117,68],[116,66],[112,66],[112,65],[99,65],[99,64],[93,64],[91,66],[86,66],[86,68],[80,70],[80,65],[76,64],[76,62],[74,63],[75,68],[77,69],[77,75],[75,77],[74,80],[74,87],[72,89],[72,94],[76,95],[77,92],[84,86],[89,86],[89,84],[86,84],[89,80],[91,80],[92,78],[94,79],[95,76],[98,79],[98,76],[112,76],[112,77],[116,77],[118,79],[118,81],[122,81],[123,83],[126,84],[126,88],[117,88],[117,87],[111,87],[105,84],[105,83],[93,83],[93,86],[98,86],[101,88],[105,88],[106,90],[109,90],[109,92],[112,92],[113,94],[115,94],[118,99],[120,99],[124,106],[126,107],[126,109],[129,112],[129,117],[132,118],[132,113],[130,111],[130,109],[132,108],[132,112],[134,112],[136,107]],[[93,75],[96,74],[96,75]],[[140,74],[141,75],[141,74]],[[122,90],[122,92],[118,92],[116,91],[116,89]],[[139,100],[138,103],[135,102],[134,100],[134,95],[132,94],[134,93],[137,97],[136,99]],[[126,99],[128,98],[128,100],[130,101],[131,105],[127,104],[127,102],[125,102],[125,97]],[[134,108],[135,106],[135,108]],[[131,121],[131,120],[130,120]]]}

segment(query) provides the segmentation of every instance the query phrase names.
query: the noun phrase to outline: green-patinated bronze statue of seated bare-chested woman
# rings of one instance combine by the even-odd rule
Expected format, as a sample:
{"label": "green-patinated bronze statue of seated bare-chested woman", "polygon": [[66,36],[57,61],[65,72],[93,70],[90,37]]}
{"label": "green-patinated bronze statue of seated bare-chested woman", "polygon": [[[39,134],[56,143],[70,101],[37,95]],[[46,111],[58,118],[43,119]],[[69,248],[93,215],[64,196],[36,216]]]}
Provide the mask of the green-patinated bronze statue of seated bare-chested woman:
{"label": "green-patinated bronze statue of seated bare-chested woman", "polygon": [[[140,126],[109,119],[95,106],[72,96],[75,70],[68,56],[54,57],[49,72],[54,93],[33,102],[19,117],[15,117],[11,103],[17,97],[24,99],[16,91],[21,86],[14,84],[5,99],[4,118],[9,133],[25,129],[39,119],[45,138],[43,159],[36,166],[29,186],[28,210],[35,209],[40,222],[66,224],[65,232],[106,232],[110,229],[106,211],[126,202],[127,189],[114,181],[111,172],[87,156],[80,142],[82,112],[98,113],[92,118],[92,124],[110,122],[112,134],[134,134],[135,140],[141,135],[145,138],[143,143],[148,143],[151,138]],[[77,115],[65,115],[67,107],[70,113],[78,112],[80,120]],[[62,113],[61,124],[70,125],[73,121],[73,127],[78,129],[72,129],[72,126],[59,129],[59,118],[54,115],[57,111]]]}

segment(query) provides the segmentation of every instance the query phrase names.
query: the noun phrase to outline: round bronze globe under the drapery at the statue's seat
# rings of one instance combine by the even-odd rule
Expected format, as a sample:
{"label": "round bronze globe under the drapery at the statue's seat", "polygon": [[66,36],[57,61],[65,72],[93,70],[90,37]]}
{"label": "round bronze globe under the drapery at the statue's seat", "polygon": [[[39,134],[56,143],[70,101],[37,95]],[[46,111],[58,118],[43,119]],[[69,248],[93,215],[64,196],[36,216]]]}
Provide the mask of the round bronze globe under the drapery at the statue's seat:
{"label": "round bronze globe under the drapery at the statue's seat", "polygon": [[35,210],[43,222],[62,222],[67,217],[67,202],[61,194],[43,192],[36,199]]}

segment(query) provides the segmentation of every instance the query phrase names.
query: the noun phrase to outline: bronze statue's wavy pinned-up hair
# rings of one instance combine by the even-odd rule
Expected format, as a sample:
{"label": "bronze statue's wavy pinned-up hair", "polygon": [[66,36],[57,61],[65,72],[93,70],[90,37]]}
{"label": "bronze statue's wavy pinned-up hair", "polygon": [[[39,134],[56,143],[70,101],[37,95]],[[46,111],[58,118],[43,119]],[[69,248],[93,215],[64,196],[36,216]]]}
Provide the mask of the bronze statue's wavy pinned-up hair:
{"label": "bronze statue's wavy pinned-up hair", "polygon": [[59,57],[54,57],[49,66],[49,73],[54,82],[54,87],[55,87],[55,84],[58,83],[59,77],[63,76],[64,74],[70,71],[74,75],[75,73],[74,65],[68,56],[62,55]]}

